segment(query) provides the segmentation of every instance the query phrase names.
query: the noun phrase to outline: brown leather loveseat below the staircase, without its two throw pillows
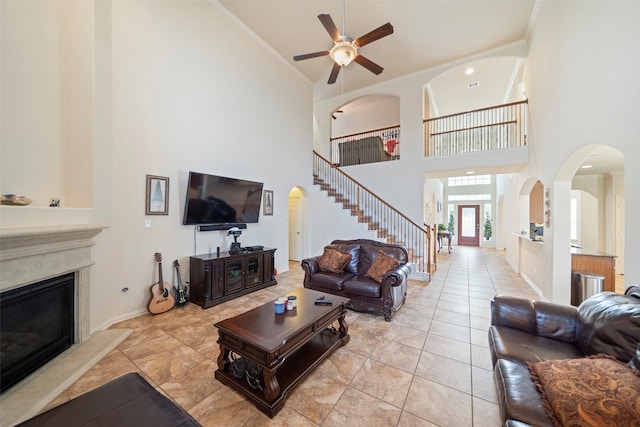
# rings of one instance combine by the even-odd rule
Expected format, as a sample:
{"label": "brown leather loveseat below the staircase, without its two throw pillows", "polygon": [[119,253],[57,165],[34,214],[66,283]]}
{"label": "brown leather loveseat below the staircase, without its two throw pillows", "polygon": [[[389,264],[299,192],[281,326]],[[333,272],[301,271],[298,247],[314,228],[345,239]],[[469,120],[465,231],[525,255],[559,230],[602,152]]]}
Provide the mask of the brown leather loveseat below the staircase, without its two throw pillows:
{"label": "brown leather loveseat below the staircase, without its two throw pillows", "polygon": [[[320,269],[320,255],[302,260],[304,287],[349,298],[348,308],[384,314],[385,320],[391,321],[393,313],[404,304],[407,296],[411,269],[407,264],[409,255],[406,248],[368,239],[334,240],[329,246],[351,254],[350,261],[343,271],[334,273]],[[400,264],[384,274],[380,283],[366,275],[378,250]]]}

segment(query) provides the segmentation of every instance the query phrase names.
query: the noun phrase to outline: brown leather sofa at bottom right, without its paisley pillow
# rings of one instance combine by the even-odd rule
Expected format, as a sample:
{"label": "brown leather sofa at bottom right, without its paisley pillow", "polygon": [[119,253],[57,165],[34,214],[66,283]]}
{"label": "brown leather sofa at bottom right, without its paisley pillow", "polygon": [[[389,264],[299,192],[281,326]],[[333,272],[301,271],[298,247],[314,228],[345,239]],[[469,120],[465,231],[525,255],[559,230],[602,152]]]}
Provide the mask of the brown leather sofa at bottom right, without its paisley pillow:
{"label": "brown leather sofa at bottom right, without its paisley pillow", "polygon": [[527,362],[608,354],[640,368],[640,286],[602,292],[579,307],[496,296],[489,349],[505,426],[552,426]]}

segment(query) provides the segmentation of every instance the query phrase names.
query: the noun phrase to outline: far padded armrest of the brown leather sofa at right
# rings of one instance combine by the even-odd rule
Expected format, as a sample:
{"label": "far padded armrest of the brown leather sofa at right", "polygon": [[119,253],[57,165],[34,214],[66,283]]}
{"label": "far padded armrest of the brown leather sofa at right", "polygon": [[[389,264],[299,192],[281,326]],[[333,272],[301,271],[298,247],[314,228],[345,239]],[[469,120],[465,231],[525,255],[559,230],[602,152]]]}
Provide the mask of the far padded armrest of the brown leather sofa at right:
{"label": "far padded armrest of the brown leather sofa at right", "polygon": [[573,343],[578,310],[570,305],[496,296],[491,301],[491,324]]}

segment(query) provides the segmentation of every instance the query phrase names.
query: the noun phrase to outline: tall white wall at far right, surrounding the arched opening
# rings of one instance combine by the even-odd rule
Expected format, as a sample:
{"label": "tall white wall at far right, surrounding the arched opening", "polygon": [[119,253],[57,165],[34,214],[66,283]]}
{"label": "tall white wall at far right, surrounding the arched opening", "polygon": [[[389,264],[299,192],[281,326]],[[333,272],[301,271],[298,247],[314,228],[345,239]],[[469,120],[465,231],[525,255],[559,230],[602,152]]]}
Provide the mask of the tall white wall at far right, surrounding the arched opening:
{"label": "tall white wall at far right, surrounding the arched opening", "polygon": [[[629,96],[640,91],[639,16],[637,2],[540,3],[527,70],[534,155],[526,175],[553,183],[552,226],[535,257],[553,301],[570,301],[570,180],[588,152],[572,153],[606,144],[622,151],[626,164],[640,159],[640,104]],[[625,168],[624,181],[640,182],[640,171]],[[640,193],[630,187],[628,217],[640,209]],[[640,224],[627,221],[625,234],[640,236]],[[638,259],[640,241],[627,238],[625,254]],[[640,282],[640,266],[627,264],[625,282]]]}

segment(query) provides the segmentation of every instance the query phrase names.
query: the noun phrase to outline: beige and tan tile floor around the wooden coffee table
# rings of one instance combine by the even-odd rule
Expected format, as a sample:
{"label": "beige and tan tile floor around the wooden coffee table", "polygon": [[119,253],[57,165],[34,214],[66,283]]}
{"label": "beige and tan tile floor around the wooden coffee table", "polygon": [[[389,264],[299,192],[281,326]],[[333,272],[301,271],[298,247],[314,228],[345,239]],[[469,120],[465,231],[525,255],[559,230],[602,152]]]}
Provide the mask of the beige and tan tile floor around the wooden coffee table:
{"label": "beige and tan tile floor around the wooden coffee table", "polygon": [[409,283],[392,322],[349,312],[350,342],[269,419],[214,378],[213,323],[286,295],[303,276],[291,263],[275,287],[207,310],[190,304],[114,325],[134,332],[50,407],[137,371],[205,426],[500,425],[487,346],[489,301],[496,293],[539,298],[503,251],[458,246],[439,254],[432,281]]}

